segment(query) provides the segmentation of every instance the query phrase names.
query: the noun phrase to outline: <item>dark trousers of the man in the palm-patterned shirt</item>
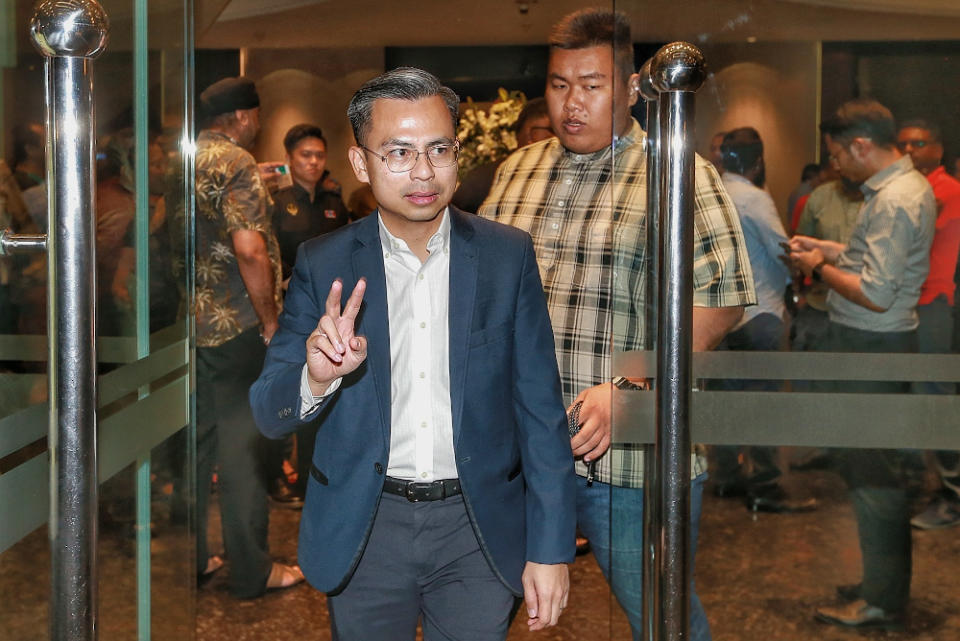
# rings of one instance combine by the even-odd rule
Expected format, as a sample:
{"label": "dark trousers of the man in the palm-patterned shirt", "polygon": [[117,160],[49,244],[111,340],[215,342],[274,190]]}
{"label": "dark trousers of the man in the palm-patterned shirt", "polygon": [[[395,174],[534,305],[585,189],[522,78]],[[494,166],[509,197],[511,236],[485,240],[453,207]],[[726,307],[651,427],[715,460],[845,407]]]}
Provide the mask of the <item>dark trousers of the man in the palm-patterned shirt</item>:
{"label": "dark trousers of the man in the palm-patterned shirt", "polygon": [[248,393],[263,367],[266,348],[257,328],[218,347],[197,348],[197,568],[207,550],[207,501],[214,464],[223,544],[230,560],[230,592],[263,594],[272,565],[267,552],[267,492],[260,470],[263,437]]}

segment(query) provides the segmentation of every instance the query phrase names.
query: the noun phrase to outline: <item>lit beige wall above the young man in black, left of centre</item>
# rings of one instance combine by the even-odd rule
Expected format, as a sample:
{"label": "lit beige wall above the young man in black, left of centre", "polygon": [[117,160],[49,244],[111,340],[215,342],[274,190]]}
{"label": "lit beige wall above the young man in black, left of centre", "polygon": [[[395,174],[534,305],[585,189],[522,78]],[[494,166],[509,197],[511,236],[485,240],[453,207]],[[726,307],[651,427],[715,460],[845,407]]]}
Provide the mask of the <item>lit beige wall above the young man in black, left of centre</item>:
{"label": "lit beige wall above the young man in black, left of centre", "polygon": [[257,81],[260,136],[253,155],[283,160],[283,136],[293,125],[319,125],[327,139],[327,168],[343,199],[360,183],[347,163],[353,144],[347,105],[364,82],[383,72],[383,48],[248,49],[244,73]]}

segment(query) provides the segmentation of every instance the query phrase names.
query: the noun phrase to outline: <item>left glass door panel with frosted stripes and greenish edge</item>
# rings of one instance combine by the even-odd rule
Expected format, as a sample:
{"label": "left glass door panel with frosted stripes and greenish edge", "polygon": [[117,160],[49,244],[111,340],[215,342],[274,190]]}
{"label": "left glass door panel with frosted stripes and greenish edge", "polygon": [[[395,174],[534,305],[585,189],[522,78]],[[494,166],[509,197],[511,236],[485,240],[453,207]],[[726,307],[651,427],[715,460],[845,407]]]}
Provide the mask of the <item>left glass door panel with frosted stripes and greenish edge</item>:
{"label": "left glass door panel with frosted stripes and greenish edge", "polygon": [[[190,403],[192,4],[103,2],[96,107],[99,631],[194,634]],[[44,64],[4,3],[0,227],[47,229]],[[0,619],[48,637],[47,267],[0,258]]]}

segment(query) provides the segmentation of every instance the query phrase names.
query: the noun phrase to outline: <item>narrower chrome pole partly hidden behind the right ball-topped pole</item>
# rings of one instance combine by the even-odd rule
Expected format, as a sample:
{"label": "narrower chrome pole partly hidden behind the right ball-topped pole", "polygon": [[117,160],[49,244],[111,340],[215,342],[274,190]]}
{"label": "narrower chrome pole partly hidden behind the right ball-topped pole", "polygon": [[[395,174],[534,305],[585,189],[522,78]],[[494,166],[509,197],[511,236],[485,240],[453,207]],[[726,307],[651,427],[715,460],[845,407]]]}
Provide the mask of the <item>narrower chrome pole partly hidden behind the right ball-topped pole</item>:
{"label": "narrower chrome pole partly hidden behind the right ball-topped pole", "polygon": [[[650,75],[652,59],[640,68],[640,95],[647,103],[647,235],[644,253],[644,333],[643,349],[657,346],[657,273],[660,264],[660,92]],[[660,531],[660,504],[657,488],[660,483],[655,444],[643,450],[643,613],[644,638],[657,638],[657,611],[660,584],[657,567],[657,541]]]}

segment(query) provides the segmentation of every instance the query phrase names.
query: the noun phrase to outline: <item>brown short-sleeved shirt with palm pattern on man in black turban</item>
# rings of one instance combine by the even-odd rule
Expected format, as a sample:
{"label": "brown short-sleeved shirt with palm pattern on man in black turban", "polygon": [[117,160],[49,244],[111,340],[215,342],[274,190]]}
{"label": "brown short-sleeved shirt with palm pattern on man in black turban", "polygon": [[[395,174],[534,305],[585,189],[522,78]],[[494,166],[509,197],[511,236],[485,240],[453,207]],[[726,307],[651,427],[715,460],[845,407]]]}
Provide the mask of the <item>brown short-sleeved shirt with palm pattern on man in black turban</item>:
{"label": "brown short-sleeved shirt with palm pattern on man in black turban", "polygon": [[274,270],[274,298],[280,308],[280,249],[270,226],[268,197],[257,163],[228,136],[204,130],[197,137],[197,255],[194,313],[197,345],[216,347],[255,327],[233,253],[233,232],[260,232]]}

